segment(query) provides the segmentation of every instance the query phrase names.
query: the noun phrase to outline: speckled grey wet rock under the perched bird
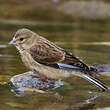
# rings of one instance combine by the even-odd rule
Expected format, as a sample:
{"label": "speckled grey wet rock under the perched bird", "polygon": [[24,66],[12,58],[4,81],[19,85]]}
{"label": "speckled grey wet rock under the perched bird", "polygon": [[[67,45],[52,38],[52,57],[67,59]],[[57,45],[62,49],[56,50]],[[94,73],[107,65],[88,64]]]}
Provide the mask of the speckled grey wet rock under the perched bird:
{"label": "speckled grey wet rock under the perched bird", "polygon": [[31,71],[13,76],[10,81],[16,88],[25,87],[46,91],[50,89],[55,89],[63,85],[61,81],[55,81],[44,76],[35,74]]}

